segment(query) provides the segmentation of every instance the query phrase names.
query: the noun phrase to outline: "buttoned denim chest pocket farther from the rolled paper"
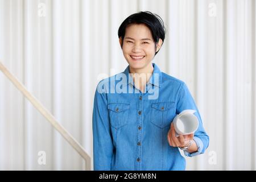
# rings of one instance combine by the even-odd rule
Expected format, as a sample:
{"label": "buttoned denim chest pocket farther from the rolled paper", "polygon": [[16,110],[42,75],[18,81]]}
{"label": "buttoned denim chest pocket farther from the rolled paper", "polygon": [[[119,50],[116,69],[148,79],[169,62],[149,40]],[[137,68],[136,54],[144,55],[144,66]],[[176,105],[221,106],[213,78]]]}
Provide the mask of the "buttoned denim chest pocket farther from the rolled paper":
{"label": "buttoned denim chest pocket farther from the rolled paper", "polygon": [[108,104],[110,125],[119,129],[128,123],[130,104]]}

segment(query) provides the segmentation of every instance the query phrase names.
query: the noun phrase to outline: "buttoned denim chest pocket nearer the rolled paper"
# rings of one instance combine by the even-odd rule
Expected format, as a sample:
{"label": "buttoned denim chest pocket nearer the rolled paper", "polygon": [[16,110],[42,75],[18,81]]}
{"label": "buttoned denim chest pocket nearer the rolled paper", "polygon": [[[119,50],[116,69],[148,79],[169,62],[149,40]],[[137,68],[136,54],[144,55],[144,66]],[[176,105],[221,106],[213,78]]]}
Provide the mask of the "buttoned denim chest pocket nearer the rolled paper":
{"label": "buttoned denim chest pocket nearer the rolled paper", "polygon": [[175,113],[175,102],[153,103],[151,105],[151,122],[162,129],[167,126],[170,127]]}

